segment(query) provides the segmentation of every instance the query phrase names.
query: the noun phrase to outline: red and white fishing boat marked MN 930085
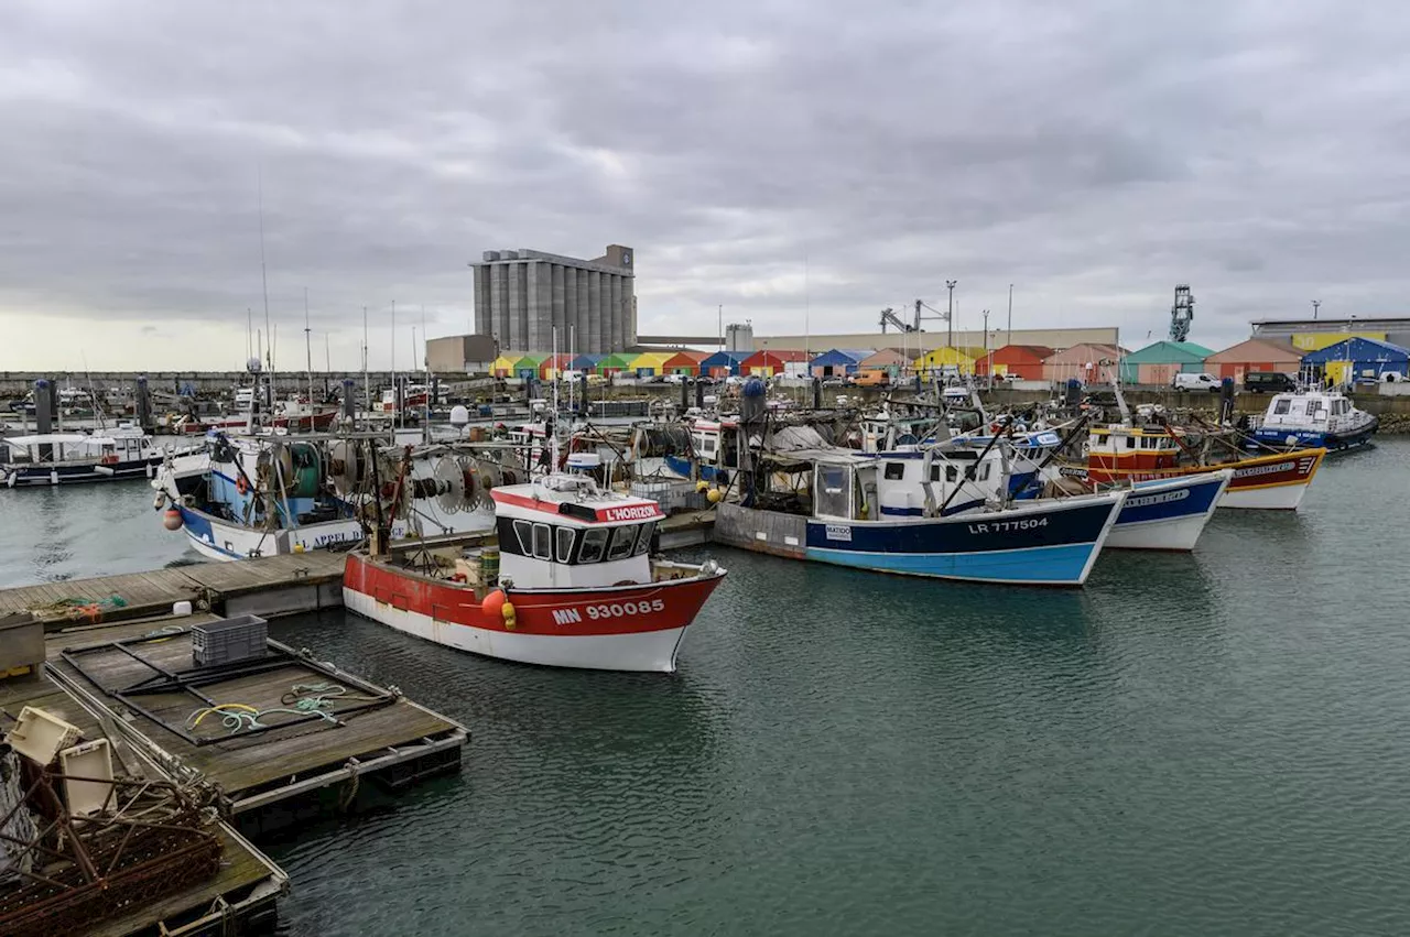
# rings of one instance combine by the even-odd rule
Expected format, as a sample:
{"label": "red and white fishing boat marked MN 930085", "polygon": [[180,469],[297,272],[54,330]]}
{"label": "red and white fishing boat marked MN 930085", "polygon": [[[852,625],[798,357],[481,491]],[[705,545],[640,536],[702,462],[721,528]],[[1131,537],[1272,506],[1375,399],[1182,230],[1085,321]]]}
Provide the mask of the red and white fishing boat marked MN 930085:
{"label": "red and white fishing boat marked MN 930085", "polygon": [[[344,606],[398,631],[505,661],[675,671],[685,630],[725,571],[713,559],[653,557],[664,511],[653,500],[599,488],[592,478],[599,466],[596,454],[574,454],[567,472],[489,492],[498,569],[477,555],[477,538],[388,544],[374,531],[368,548],[348,554]],[[422,496],[416,486],[406,490]]]}

